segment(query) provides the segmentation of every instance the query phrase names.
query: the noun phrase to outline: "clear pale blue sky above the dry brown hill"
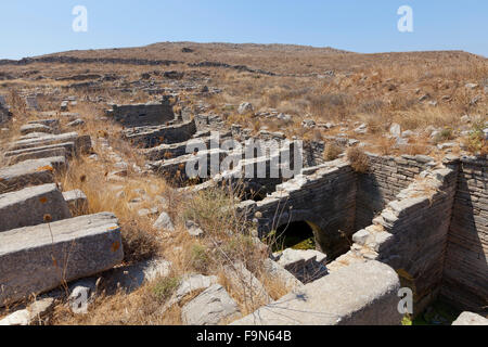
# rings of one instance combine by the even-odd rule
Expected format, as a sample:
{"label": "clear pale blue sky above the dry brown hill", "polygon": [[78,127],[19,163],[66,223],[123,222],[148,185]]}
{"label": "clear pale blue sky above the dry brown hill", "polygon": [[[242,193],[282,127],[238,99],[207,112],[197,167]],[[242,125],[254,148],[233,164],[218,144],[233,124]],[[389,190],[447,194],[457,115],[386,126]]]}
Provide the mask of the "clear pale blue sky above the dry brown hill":
{"label": "clear pale blue sky above the dry brown hill", "polygon": [[[413,9],[413,33],[397,10]],[[88,31],[75,33],[75,5]],[[1,0],[0,59],[162,41],[297,43],[356,52],[488,56],[487,0]]]}

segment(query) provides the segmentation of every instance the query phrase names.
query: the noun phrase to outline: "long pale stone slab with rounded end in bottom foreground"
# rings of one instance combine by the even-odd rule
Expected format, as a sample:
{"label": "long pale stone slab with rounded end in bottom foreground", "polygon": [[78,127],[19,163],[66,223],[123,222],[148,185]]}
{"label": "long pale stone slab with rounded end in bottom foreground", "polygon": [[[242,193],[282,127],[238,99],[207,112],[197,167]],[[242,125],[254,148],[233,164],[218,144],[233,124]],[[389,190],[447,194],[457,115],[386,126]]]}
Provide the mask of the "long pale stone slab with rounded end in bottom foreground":
{"label": "long pale stone slab with rounded end in bottom foreground", "polygon": [[233,325],[399,325],[398,274],[378,261],[343,267]]}

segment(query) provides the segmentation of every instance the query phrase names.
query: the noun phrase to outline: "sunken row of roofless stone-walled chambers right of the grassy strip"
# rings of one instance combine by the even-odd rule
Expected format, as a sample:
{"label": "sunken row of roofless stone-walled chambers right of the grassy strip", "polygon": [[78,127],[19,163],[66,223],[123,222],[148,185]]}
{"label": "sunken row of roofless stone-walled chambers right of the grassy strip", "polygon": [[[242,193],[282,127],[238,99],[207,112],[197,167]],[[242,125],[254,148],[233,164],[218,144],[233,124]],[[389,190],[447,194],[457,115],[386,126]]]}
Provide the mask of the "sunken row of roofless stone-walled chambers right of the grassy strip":
{"label": "sunken row of roofless stone-walled chambers right of the grassy strip", "polygon": [[[116,117],[125,123],[121,113]],[[131,112],[127,118],[133,119]],[[314,323],[313,317],[298,312],[317,310],[318,306],[338,312],[324,318],[324,324],[398,323],[400,316],[394,301],[398,304],[399,287],[412,290],[414,313],[442,297],[461,309],[486,314],[486,158],[448,155],[437,160],[425,155],[368,153],[368,170],[360,174],[347,158],[325,163],[323,146],[308,145],[301,157],[305,168],[294,178],[246,179],[230,174],[244,172],[259,162],[269,169],[272,156],[249,160],[233,151],[196,155],[185,149],[195,140],[209,143],[211,130],[220,130],[221,139],[245,142],[251,138],[248,129],[234,126],[229,131],[213,115],[196,115],[190,120],[177,116],[165,126],[132,121],[127,120],[133,127],[126,128],[124,137],[145,155],[147,169],[166,178],[177,177],[174,184],[180,190],[195,192],[244,182],[248,194],[237,210],[255,221],[260,239],[295,227],[308,228],[313,235],[314,254],[290,250],[271,255],[274,265],[299,280],[298,287],[310,301],[304,304],[293,293],[241,323]],[[258,138],[284,137],[261,131]],[[357,141],[335,140],[346,146],[357,145]],[[288,151],[294,152],[293,145]],[[204,181],[184,176],[183,168],[193,165],[195,156],[211,155],[219,163],[237,155],[240,162],[230,171],[210,175]],[[350,305],[345,304],[348,298],[344,296],[333,299],[333,293],[345,287],[351,291]],[[283,309],[290,310],[285,320],[280,318]]]}

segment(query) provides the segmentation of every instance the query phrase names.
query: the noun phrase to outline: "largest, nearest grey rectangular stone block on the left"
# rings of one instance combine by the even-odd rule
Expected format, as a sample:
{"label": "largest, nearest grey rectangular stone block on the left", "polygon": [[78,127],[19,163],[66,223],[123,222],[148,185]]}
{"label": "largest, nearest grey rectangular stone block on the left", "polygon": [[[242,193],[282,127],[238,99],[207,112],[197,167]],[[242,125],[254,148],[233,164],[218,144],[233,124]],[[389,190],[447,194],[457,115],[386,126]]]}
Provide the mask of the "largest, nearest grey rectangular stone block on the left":
{"label": "largest, nearest grey rectangular stone block on the left", "polygon": [[0,306],[108,270],[124,258],[110,213],[0,233]]}

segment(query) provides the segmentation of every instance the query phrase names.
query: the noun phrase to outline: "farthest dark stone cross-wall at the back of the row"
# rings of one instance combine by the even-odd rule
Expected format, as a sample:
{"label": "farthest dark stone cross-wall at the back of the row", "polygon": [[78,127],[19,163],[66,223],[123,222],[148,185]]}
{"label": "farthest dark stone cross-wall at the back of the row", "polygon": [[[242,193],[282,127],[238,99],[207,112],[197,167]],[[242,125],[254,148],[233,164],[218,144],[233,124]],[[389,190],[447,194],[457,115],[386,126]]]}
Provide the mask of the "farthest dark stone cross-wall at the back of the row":
{"label": "farthest dark stone cross-wall at the back of the row", "polygon": [[112,110],[107,111],[107,115],[128,128],[165,125],[175,119],[172,105],[166,101],[132,105],[114,104]]}

